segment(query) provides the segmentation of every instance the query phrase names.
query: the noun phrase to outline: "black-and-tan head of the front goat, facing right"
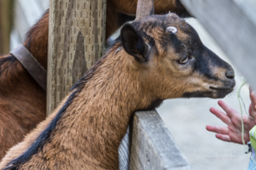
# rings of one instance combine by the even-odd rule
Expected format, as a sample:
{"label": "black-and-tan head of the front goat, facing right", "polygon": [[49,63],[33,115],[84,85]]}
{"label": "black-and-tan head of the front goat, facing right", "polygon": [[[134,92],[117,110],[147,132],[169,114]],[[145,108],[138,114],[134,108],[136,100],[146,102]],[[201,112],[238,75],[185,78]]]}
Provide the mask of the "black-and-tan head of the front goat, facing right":
{"label": "black-and-tan head of the front goat, facing right", "polygon": [[235,86],[231,65],[204,46],[194,28],[174,13],[125,24],[121,40],[141,69],[141,81],[157,98],[224,98]]}

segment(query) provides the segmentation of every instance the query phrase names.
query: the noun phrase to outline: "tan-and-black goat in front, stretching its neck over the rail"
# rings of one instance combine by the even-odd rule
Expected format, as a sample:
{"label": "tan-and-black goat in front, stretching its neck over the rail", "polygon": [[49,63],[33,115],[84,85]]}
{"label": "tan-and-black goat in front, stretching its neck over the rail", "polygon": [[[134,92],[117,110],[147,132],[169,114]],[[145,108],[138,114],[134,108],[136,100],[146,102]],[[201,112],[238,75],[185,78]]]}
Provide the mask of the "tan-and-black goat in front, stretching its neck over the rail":
{"label": "tan-and-black goat in front, stretching its neck over the rail", "polygon": [[232,67],[185,20],[174,13],[136,20],[0,168],[118,169],[134,111],[166,98],[224,98],[234,86]]}

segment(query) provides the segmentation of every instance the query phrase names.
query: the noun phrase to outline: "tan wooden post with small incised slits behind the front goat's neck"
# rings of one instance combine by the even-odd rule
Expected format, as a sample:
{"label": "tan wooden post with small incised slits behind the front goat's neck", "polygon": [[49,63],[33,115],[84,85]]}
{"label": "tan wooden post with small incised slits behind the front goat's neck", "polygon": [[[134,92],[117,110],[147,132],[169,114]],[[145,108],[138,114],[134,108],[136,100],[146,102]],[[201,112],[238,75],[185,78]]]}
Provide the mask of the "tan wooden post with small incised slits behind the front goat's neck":
{"label": "tan wooden post with small incised slits behind the front goat's neck", "polygon": [[50,0],[47,115],[103,54],[106,0]]}

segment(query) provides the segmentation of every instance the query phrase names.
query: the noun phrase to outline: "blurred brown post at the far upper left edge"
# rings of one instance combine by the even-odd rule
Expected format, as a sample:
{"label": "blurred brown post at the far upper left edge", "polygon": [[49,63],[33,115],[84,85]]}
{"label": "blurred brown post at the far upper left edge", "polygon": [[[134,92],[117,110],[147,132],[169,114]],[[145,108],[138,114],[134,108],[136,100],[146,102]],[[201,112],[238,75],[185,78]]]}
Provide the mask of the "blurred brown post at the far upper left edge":
{"label": "blurred brown post at the far upper left edge", "polygon": [[0,55],[9,53],[13,0],[0,1]]}

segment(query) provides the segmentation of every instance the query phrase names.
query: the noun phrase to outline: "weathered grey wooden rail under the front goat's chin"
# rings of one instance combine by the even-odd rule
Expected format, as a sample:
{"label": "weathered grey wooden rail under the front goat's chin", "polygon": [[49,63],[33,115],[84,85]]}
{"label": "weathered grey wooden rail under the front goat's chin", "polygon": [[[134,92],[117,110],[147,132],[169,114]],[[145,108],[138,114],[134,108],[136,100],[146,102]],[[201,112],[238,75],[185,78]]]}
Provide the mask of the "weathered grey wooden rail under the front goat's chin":
{"label": "weathered grey wooden rail under the front goat's chin", "polygon": [[135,113],[130,169],[191,169],[156,110]]}

